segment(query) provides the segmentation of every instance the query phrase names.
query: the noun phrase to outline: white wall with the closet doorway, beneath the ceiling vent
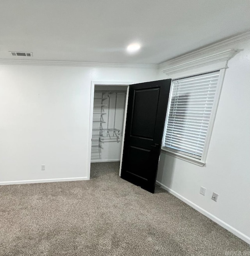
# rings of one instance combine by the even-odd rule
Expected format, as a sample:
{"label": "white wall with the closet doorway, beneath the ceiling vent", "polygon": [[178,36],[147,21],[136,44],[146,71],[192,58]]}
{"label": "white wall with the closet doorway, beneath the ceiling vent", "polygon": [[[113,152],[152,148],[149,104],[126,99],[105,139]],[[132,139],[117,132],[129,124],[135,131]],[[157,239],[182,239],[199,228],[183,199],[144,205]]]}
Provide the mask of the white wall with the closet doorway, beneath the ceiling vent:
{"label": "white wall with the closet doorway, beneath the ceiling vent", "polygon": [[91,80],[156,76],[154,69],[0,65],[0,184],[87,178]]}

